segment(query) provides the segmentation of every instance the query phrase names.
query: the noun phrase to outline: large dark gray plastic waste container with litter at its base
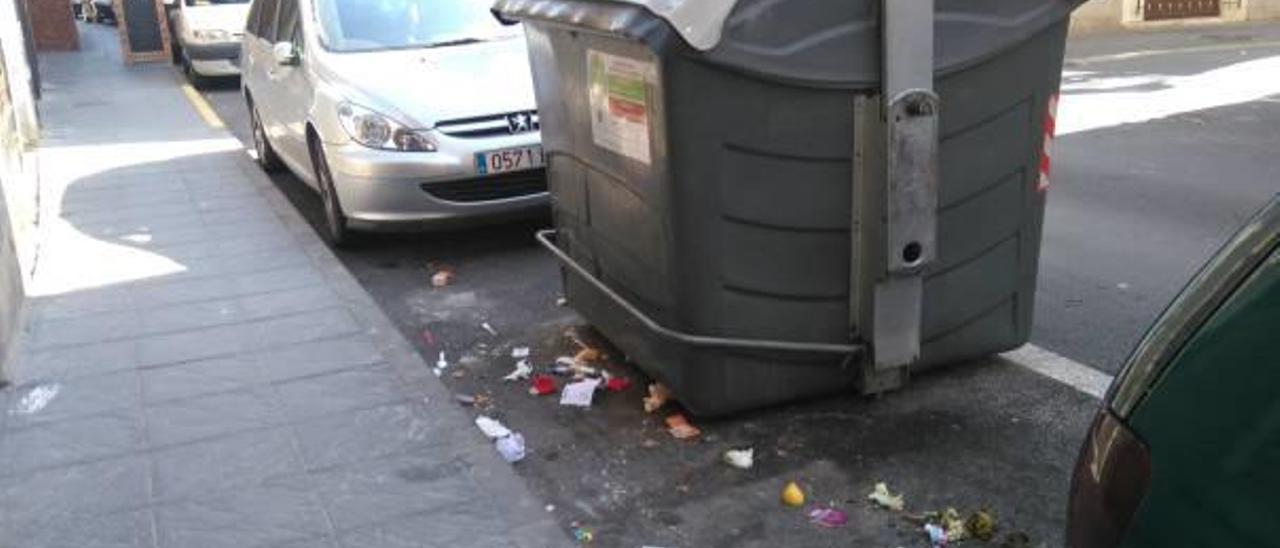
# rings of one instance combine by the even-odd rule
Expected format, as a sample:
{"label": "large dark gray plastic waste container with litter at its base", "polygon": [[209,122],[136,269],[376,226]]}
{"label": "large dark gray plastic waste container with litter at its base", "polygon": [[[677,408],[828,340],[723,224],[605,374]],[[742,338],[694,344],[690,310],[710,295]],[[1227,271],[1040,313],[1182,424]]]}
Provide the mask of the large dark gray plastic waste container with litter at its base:
{"label": "large dark gray plastic waste container with litter at its base", "polygon": [[896,330],[918,335],[896,364],[911,370],[1028,338],[1046,118],[1079,0],[925,14],[940,114],[920,216],[936,238],[914,318],[877,289],[900,261],[882,74],[901,59],[881,1],[916,0],[498,1],[526,27],[557,227],[544,243],[568,301],[695,414],[896,388],[906,367],[876,359]]}

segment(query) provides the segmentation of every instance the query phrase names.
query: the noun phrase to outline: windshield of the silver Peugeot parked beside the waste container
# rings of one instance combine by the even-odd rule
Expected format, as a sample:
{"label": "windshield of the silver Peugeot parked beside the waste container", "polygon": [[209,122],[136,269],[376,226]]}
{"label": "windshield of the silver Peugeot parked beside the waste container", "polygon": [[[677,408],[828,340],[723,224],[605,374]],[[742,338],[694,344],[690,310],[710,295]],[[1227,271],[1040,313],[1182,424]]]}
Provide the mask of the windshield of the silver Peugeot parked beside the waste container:
{"label": "windshield of the silver Peugeot parked beside the waste container", "polygon": [[321,38],[334,51],[438,47],[516,36],[492,0],[317,0]]}

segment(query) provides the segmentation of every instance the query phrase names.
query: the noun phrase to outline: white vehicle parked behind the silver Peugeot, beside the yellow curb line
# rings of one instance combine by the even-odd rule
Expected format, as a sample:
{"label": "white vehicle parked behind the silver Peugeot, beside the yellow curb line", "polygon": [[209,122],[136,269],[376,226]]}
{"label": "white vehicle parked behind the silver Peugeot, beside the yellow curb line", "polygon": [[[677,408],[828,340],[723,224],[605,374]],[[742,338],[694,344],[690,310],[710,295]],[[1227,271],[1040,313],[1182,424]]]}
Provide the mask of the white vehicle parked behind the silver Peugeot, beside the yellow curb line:
{"label": "white vehicle parked behind the silver Peugeot, beside the yellow curb line", "polygon": [[174,61],[193,85],[239,74],[250,0],[175,0],[169,10]]}

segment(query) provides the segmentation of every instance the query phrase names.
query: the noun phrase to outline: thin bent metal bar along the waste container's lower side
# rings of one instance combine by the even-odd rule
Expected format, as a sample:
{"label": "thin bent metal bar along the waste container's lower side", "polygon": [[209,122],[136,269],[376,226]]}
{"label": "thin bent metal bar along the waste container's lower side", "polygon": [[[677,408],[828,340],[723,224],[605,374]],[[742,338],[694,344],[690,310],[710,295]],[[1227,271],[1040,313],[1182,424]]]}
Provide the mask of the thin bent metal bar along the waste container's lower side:
{"label": "thin bent metal bar along the waste container's lower side", "polygon": [[867,347],[863,344],[831,344],[831,343],[815,343],[815,342],[791,342],[791,341],[768,341],[768,339],[742,339],[742,338],[730,338],[730,337],[709,337],[709,335],[696,335],[684,332],[677,332],[675,329],[667,328],[653,318],[640,311],[635,305],[627,302],[616,291],[611,289],[599,278],[593,275],[582,265],[570,257],[564,250],[561,250],[556,242],[552,241],[558,230],[544,229],[538,230],[534,237],[538,238],[538,243],[541,243],[557,260],[564,266],[568,266],[575,274],[581,277],[584,280],[594,286],[602,293],[613,300],[614,303],[621,306],[628,314],[640,320],[644,326],[649,330],[662,335],[664,338],[677,341],[689,346],[698,347],[713,347],[713,348],[741,348],[741,350],[765,350],[765,351],[785,351],[785,352],[818,352],[818,353],[837,353],[846,355],[849,357],[855,357],[861,355]]}

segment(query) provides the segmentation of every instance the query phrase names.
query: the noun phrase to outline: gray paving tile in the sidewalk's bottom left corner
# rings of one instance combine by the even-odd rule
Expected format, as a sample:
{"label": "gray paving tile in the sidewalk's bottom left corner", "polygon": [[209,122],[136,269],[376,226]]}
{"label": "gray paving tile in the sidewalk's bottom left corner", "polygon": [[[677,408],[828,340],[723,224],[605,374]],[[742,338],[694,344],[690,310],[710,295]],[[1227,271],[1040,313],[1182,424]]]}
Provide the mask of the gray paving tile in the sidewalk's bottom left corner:
{"label": "gray paving tile in the sidewalk's bottom left corner", "polygon": [[4,531],[24,548],[154,548],[151,511],[105,516],[51,516]]}

